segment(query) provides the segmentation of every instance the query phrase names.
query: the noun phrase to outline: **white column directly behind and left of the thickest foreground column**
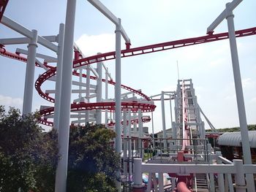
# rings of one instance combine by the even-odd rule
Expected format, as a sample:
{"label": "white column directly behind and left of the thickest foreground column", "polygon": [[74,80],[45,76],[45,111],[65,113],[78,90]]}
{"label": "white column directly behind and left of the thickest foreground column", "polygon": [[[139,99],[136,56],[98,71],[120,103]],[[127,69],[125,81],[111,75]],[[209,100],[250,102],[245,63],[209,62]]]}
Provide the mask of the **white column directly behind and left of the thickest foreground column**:
{"label": "white column directly behind and left of the thickest foreground column", "polygon": [[54,116],[53,127],[59,130],[59,110],[61,100],[61,76],[62,76],[62,63],[63,63],[63,48],[64,48],[64,24],[59,25],[59,39],[58,39],[58,52],[57,52],[57,71],[56,71],[56,84],[55,84],[55,101],[54,101]]}

